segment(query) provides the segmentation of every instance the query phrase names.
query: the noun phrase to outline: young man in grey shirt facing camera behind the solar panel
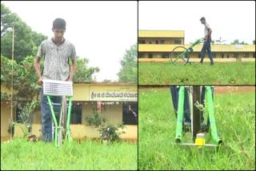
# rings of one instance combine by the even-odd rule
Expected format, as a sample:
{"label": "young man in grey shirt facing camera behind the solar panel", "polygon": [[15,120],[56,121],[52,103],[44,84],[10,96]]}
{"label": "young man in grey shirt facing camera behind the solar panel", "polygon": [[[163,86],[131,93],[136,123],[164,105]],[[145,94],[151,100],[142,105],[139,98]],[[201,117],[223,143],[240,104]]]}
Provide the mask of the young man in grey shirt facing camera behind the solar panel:
{"label": "young man in grey shirt facing camera behind the solar panel", "polygon": [[[63,35],[66,31],[66,22],[62,18],[56,18],[53,22],[54,38],[44,40],[38,48],[38,54],[34,60],[34,68],[38,75],[38,85],[42,85],[42,80],[58,80],[72,82],[76,69],[76,53],[74,45],[68,42]],[[39,62],[44,61],[42,74]],[[72,66],[70,67],[69,61]],[[42,113],[42,141],[52,140],[52,117],[47,97],[43,96],[40,89],[41,113]],[[51,97],[51,101],[60,104],[62,97]],[[59,107],[54,110],[59,111]]]}

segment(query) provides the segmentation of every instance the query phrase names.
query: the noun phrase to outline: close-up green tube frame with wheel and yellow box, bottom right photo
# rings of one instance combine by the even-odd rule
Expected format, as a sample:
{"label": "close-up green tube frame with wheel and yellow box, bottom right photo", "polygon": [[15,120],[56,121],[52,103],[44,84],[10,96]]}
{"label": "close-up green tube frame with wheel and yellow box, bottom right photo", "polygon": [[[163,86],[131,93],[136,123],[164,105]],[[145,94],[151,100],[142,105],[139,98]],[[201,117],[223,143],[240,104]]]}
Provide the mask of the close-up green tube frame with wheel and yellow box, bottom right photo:
{"label": "close-up green tube frame with wheel and yellow box, bottom right photo", "polygon": [[176,126],[176,137],[175,142],[180,145],[193,145],[193,146],[219,146],[222,144],[222,139],[218,137],[217,127],[214,118],[214,101],[212,96],[212,90],[210,86],[206,86],[206,101],[208,102],[209,118],[210,118],[210,133],[212,139],[216,144],[206,144],[204,139],[204,133],[200,133],[201,129],[201,111],[194,104],[197,101],[201,101],[201,87],[186,86],[189,89],[189,100],[190,100],[190,117],[191,117],[191,132],[192,140],[194,143],[182,143],[182,127],[183,127],[183,117],[184,117],[184,100],[185,100],[185,86],[180,86],[179,96],[178,96],[178,116],[177,116],[177,126]]}

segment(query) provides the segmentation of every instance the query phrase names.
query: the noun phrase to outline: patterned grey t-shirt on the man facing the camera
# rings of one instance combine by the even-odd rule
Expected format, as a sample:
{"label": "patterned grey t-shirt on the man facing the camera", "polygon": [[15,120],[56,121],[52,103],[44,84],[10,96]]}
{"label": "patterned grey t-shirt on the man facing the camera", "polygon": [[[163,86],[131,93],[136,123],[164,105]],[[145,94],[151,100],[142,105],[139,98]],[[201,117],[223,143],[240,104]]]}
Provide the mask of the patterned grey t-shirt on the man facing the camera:
{"label": "patterned grey t-shirt on the man facing the camera", "polygon": [[44,60],[42,78],[66,81],[70,74],[68,59],[76,60],[74,45],[65,40],[56,45],[51,39],[44,40],[38,48],[39,58]]}

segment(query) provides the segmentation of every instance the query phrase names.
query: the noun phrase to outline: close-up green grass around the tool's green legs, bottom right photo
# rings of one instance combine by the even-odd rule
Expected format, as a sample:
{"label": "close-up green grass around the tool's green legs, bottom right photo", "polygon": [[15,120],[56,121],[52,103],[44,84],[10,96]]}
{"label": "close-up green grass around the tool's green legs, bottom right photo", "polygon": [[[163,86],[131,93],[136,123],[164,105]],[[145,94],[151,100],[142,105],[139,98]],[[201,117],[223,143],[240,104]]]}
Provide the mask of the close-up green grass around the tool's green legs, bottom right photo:
{"label": "close-up green grass around the tool's green legs, bottom right photo", "polygon": [[220,151],[174,145],[170,89],[138,94],[138,169],[255,169],[255,93],[214,94],[218,135],[225,143]]}

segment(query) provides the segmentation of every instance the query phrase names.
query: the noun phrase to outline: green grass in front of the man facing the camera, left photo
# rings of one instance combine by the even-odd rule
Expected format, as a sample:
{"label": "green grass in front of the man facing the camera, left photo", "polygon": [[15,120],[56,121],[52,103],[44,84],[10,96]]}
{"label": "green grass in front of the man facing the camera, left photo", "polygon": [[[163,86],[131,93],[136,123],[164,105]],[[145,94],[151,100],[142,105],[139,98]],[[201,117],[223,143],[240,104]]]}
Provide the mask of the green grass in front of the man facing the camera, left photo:
{"label": "green grass in front of the man facing the camera, left photo", "polygon": [[1,170],[120,170],[138,169],[138,144],[121,141],[105,145],[99,141],[53,143],[15,139],[1,143]]}

